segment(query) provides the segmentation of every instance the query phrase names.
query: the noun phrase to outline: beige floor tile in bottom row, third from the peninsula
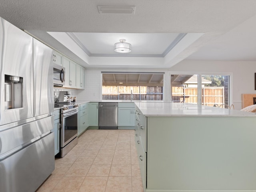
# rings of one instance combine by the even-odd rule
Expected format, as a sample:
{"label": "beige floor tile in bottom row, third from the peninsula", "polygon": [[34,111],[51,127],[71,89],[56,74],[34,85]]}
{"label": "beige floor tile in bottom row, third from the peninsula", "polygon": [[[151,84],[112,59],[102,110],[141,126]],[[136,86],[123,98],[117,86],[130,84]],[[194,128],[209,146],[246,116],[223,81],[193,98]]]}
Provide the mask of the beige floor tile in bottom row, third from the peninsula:
{"label": "beige floor tile in bottom row, third from the peninsula", "polygon": [[86,177],[79,192],[105,192],[108,177]]}

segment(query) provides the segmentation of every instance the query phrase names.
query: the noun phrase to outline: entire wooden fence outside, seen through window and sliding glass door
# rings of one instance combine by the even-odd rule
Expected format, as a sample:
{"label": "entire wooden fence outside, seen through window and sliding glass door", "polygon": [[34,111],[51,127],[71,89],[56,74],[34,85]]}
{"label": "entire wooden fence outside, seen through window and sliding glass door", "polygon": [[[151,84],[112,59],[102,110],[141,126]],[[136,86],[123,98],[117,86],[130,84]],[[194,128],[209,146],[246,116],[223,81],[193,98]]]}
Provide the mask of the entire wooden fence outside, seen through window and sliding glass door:
{"label": "entire wooden fence outside, seen through window and sliding glass door", "polygon": [[[163,100],[163,87],[147,86],[102,86],[103,100]],[[197,103],[197,88],[172,86],[172,101]],[[202,104],[214,106],[224,104],[224,87],[202,88]]]}

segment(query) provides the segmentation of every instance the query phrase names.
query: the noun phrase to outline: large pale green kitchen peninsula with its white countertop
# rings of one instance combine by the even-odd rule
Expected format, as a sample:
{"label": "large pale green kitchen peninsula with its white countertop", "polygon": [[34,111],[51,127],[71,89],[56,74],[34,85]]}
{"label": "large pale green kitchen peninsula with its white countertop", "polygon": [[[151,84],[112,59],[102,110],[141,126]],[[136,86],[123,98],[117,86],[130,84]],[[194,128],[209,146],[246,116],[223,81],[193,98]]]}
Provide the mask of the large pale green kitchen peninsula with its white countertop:
{"label": "large pale green kitchen peninsula with its white countertop", "polygon": [[145,192],[255,192],[256,114],[135,102]]}

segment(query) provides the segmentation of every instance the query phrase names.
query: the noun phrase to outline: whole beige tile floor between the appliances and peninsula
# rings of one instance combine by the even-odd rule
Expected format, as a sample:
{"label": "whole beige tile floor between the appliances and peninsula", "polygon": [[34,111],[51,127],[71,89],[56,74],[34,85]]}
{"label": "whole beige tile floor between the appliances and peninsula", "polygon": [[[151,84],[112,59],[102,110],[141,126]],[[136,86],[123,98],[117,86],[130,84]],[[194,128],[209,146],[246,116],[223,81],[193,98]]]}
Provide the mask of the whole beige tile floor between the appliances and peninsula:
{"label": "whole beige tile floor between the appliances and peninsula", "polygon": [[37,192],[143,192],[134,130],[86,130]]}

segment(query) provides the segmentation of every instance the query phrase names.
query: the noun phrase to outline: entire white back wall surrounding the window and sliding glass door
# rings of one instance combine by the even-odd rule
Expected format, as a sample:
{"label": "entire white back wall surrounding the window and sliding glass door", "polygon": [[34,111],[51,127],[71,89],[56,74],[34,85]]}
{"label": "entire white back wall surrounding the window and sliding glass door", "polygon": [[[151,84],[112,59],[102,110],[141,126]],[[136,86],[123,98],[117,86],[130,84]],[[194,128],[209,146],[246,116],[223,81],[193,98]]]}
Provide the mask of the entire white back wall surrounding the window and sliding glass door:
{"label": "entire white back wall surrounding the window and sliding glass door", "polygon": [[166,69],[86,69],[85,90],[76,91],[78,100],[101,100],[102,71],[111,72],[165,72],[164,100],[170,100],[170,74],[174,72],[198,72],[211,74],[230,74],[231,76],[231,102],[235,109],[241,109],[241,94],[256,93],[254,90],[254,72],[256,62],[221,62],[221,61],[191,61],[184,60],[172,68]]}

